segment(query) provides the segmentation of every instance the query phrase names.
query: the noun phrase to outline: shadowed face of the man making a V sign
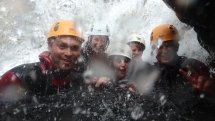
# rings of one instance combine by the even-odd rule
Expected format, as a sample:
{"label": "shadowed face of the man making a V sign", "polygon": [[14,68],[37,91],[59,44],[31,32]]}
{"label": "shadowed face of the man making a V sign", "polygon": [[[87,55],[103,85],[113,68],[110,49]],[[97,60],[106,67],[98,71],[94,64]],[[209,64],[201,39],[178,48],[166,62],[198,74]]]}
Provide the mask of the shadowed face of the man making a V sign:
{"label": "shadowed face of the man making a V sign", "polygon": [[173,63],[177,57],[178,46],[178,43],[175,43],[175,41],[163,42],[157,50],[156,58],[158,62],[165,65]]}

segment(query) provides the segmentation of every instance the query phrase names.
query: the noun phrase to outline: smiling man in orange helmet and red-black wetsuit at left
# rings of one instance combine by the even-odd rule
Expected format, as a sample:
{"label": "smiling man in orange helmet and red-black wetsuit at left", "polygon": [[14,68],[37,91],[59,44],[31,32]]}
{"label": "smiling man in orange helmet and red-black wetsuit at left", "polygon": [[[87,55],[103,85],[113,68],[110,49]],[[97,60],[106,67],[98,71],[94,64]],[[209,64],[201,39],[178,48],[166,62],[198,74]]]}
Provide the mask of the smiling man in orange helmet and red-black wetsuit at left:
{"label": "smiling man in orange helmet and red-black wetsuit at left", "polygon": [[55,94],[75,87],[80,80],[78,73],[83,71],[77,62],[83,42],[83,36],[76,31],[72,21],[55,22],[47,38],[49,51],[39,55],[40,62],[23,64],[3,74],[1,94],[7,96],[14,86],[35,95]]}

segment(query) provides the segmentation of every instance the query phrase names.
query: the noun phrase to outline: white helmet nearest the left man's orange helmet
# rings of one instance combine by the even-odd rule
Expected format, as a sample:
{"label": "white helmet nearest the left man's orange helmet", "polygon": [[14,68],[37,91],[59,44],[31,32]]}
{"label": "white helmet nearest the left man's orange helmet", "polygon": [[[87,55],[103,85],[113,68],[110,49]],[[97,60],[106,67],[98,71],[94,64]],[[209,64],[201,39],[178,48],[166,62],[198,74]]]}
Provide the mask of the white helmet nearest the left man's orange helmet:
{"label": "white helmet nearest the left man's orange helmet", "polygon": [[108,25],[103,22],[95,22],[90,27],[89,35],[106,35],[110,36]]}

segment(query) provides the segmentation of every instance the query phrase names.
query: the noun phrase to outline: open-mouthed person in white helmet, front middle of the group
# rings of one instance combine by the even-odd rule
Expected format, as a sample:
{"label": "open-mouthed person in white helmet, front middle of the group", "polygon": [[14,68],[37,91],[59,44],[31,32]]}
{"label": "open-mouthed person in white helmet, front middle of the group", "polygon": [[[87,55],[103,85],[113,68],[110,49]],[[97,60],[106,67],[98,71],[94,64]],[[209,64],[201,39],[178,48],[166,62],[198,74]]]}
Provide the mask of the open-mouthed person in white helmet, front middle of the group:
{"label": "open-mouthed person in white helmet, front middle of the group", "polygon": [[124,80],[127,75],[130,60],[132,59],[130,47],[124,43],[116,43],[111,47],[111,50],[108,53],[108,57],[111,68],[105,68],[106,74],[108,76],[100,76],[99,78],[94,78],[92,83],[95,84],[95,87],[107,85],[111,82],[116,85],[127,83],[124,82]]}

